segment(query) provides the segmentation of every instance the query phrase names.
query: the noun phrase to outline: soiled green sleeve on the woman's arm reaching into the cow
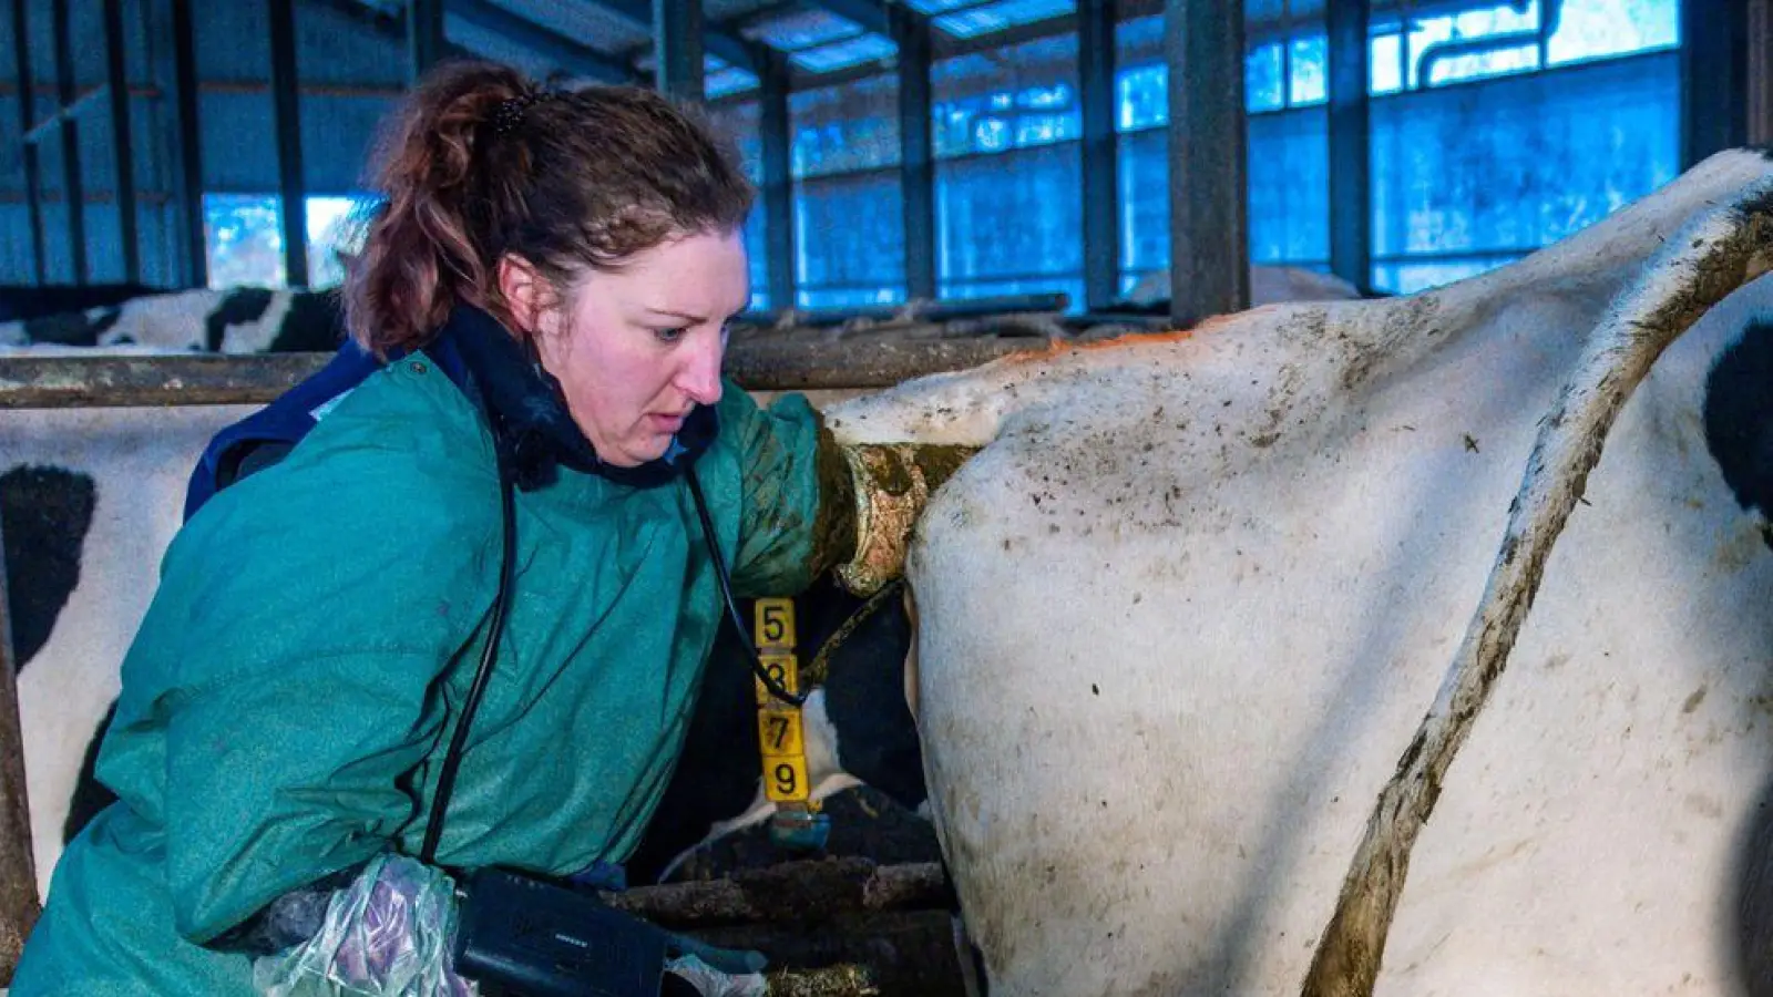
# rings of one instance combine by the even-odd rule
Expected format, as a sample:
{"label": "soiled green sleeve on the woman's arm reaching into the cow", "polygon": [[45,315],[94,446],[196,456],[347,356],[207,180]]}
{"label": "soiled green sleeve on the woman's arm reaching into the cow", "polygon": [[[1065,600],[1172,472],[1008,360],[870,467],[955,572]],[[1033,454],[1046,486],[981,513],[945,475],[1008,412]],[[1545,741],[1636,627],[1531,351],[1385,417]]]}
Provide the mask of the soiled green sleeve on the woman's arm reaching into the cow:
{"label": "soiled green sleeve on the woman's arm reaching into the cow", "polygon": [[800,394],[761,410],[730,383],[720,419],[730,426],[741,472],[732,587],[745,598],[800,593],[830,562],[824,548],[833,527],[821,497],[833,491],[833,472],[847,474],[840,458],[821,445],[830,442],[830,431]]}

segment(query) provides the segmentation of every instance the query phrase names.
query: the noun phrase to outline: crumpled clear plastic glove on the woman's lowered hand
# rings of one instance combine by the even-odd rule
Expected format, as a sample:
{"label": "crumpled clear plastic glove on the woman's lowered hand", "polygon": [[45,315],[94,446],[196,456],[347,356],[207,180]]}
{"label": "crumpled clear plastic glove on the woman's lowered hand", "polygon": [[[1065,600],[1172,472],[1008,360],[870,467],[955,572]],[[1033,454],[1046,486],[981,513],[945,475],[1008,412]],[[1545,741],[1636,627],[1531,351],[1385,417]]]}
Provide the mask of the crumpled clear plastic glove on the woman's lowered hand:
{"label": "crumpled clear plastic glove on the woman's lowered hand", "polygon": [[264,997],[472,997],[456,976],[456,885],[441,869],[402,855],[369,862],[333,892],[307,942],[254,962]]}

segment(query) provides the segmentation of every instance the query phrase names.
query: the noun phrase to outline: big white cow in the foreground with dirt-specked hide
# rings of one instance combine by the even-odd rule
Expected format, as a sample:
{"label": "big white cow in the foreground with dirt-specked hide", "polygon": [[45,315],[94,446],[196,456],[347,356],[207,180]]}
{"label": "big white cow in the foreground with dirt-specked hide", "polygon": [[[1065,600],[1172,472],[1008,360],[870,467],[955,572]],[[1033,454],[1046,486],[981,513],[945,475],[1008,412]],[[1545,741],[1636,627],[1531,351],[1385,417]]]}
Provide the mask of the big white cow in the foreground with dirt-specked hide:
{"label": "big white cow in the foreground with dirt-specked hide", "polygon": [[[1298,990],[1587,335],[1764,270],[1769,184],[1723,153],[1436,291],[828,410],[847,442],[984,447],[908,578],[931,811],[995,997]],[[1752,266],[1695,263],[1746,238]],[[1769,302],[1713,307],[1613,426],[1438,786],[1379,993],[1773,992]]]}

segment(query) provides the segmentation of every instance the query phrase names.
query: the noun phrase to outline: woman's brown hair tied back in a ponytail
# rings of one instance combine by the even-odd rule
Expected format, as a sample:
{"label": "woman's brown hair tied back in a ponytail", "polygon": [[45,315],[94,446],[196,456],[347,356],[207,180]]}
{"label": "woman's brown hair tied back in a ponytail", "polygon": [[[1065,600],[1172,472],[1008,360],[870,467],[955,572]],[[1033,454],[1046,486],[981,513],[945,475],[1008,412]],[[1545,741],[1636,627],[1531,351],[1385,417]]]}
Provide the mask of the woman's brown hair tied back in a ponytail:
{"label": "woman's brown hair tied back in a ponytail", "polygon": [[507,254],[567,300],[585,270],[738,231],[754,197],[690,108],[638,87],[543,90],[493,62],[433,71],[388,121],[371,184],[385,200],[344,293],[351,335],[378,355],[424,344],[457,303],[511,325]]}

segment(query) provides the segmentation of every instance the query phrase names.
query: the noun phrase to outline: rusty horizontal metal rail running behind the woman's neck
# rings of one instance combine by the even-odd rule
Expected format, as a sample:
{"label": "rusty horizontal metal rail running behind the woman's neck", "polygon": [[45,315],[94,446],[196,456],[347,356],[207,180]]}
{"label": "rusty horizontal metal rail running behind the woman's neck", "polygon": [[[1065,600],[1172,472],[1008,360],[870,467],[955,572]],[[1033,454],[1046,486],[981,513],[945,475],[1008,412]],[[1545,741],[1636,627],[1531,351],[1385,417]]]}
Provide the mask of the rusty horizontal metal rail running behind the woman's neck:
{"label": "rusty horizontal metal rail running behind the woman's neck", "polygon": [[[727,374],[746,390],[881,389],[1048,346],[1037,337],[736,344],[727,351]],[[0,357],[0,410],[264,404],[330,357]]]}

